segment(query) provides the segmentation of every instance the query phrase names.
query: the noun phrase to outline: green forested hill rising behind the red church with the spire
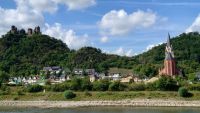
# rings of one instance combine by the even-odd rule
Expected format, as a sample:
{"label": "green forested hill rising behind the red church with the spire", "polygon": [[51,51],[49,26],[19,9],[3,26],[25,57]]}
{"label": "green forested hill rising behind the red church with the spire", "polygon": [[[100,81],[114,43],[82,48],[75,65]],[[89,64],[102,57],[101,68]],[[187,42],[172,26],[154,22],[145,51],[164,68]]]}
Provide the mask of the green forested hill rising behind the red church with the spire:
{"label": "green forested hill rising behind the red church with the spire", "polygon": [[[177,65],[186,75],[200,71],[200,34],[198,32],[183,33],[172,38],[171,44]],[[164,50],[165,44],[162,44],[136,56],[136,60],[140,66],[137,65],[134,70],[146,75],[157,73],[155,71],[163,66]]]}

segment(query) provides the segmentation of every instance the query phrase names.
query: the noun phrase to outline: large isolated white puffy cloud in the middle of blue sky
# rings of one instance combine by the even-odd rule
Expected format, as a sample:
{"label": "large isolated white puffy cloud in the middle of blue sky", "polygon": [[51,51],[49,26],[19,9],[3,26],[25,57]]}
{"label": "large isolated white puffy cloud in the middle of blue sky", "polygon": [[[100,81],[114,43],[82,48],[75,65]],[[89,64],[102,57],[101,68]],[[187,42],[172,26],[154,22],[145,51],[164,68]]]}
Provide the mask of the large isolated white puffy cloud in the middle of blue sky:
{"label": "large isolated white puffy cloud in the middle of blue sky", "polygon": [[101,32],[108,35],[123,35],[133,29],[147,28],[152,26],[157,19],[157,15],[147,10],[138,10],[127,14],[123,9],[112,10],[106,13],[98,23]]}

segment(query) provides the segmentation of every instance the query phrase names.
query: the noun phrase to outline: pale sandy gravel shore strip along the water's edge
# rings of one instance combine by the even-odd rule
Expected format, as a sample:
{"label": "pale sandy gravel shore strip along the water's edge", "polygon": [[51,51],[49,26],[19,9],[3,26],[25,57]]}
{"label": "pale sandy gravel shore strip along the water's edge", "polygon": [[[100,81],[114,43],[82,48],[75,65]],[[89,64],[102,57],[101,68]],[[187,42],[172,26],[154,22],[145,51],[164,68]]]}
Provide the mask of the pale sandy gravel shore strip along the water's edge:
{"label": "pale sandy gravel shore strip along the water's edge", "polygon": [[1,107],[73,108],[92,106],[137,106],[137,107],[200,107],[200,101],[184,100],[120,100],[120,101],[0,101]]}

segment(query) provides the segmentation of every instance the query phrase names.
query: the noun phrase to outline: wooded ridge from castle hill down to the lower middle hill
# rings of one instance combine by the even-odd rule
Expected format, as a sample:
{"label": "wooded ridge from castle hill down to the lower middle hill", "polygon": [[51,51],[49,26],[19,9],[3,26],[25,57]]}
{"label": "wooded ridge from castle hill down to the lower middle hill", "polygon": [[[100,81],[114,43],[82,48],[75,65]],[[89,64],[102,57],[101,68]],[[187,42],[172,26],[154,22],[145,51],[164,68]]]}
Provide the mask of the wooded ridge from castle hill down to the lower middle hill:
{"label": "wooded ridge from castle hill down to the lower middle hill", "polygon": [[132,58],[107,55],[100,49],[83,47],[70,50],[65,43],[42,34],[7,33],[0,38],[0,76],[39,74],[44,66],[95,68],[105,72],[109,67],[132,68]]}

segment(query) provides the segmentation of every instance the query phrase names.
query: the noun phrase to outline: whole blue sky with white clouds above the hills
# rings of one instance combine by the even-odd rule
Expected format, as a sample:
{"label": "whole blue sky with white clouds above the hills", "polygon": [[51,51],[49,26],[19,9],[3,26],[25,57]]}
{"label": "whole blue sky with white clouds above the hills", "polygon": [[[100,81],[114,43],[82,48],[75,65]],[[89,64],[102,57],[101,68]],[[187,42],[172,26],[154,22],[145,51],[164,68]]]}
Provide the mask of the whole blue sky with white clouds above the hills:
{"label": "whole blue sky with white clouds above the hills", "polygon": [[40,26],[78,50],[133,56],[181,33],[200,31],[199,0],[0,0],[0,35]]}

